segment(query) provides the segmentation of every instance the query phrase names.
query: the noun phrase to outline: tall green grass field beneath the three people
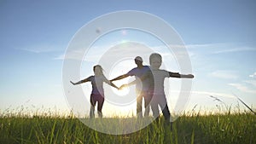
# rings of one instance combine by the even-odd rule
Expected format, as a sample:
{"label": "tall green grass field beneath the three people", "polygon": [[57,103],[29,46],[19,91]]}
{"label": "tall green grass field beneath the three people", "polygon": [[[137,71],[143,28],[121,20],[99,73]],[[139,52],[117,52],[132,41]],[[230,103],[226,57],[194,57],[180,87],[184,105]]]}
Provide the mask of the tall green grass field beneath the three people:
{"label": "tall green grass field beneath the three people", "polygon": [[[136,118],[134,118],[136,119]],[[119,118],[95,119],[112,126]],[[126,135],[103,134],[79,121],[61,116],[1,116],[0,143],[256,143],[256,115],[250,112],[183,115],[173,123],[164,119]]]}

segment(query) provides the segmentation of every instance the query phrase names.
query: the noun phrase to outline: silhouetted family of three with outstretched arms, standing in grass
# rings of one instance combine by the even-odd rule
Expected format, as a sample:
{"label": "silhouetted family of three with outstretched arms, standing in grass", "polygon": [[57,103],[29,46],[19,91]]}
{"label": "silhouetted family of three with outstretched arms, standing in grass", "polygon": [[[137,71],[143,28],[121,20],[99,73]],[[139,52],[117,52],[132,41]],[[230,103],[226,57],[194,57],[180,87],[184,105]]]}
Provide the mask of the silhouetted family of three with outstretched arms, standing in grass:
{"label": "silhouetted family of three with outstretched arms, standing in grass", "polygon": [[[136,84],[136,94],[137,94],[137,118],[143,118],[142,113],[142,103],[144,98],[144,117],[148,117],[149,107],[153,112],[154,118],[158,119],[160,112],[159,106],[163,112],[165,119],[169,122],[171,113],[167,106],[166,95],[164,90],[164,80],[165,78],[194,78],[192,74],[179,74],[178,72],[168,72],[166,70],[161,70],[160,66],[162,64],[162,57],[158,53],[153,53],[149,56],[150,66],[143,66],[143,59],[137,56],[135,59],[137,67],[131,69],[131,71],[111,80],[108,80],[103,72],[102,66],[96,65],[93,67],[94,76],[85,78],[75,84],[83,84],[90,82],[92,85],[92,91],[90,95],[90,118],[95,117],[95,106],[96,101],[98,102],[97,112],[98,116],[102,118],[102,106],[104,103],[104,90],[103,82],[113,86],[116,89],[122,89],[125,86],[130,86],[131,84]],[[113,84],[113,81],[126,78],[129,76],[135,76],[135,80],[129,84],[123,84],[117,87]]]}

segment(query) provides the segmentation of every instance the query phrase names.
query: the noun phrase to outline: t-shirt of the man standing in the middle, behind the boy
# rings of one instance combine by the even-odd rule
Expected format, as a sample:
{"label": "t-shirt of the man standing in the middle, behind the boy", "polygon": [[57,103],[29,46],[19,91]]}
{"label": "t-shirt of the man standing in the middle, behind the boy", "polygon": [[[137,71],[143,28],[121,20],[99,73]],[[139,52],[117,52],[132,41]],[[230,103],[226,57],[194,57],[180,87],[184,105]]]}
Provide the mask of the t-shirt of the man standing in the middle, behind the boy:
{"label": "t-shirt of the man standing in the middle, behind the boy", "polygon": [[149,79],[142,80],[143,75],[150,71],[149,66],[143,66],[142,68],[135,67],[131,71],[127,72],[128,76],[135,76],[136,78],[136,89],[147,91],[149,88]]}

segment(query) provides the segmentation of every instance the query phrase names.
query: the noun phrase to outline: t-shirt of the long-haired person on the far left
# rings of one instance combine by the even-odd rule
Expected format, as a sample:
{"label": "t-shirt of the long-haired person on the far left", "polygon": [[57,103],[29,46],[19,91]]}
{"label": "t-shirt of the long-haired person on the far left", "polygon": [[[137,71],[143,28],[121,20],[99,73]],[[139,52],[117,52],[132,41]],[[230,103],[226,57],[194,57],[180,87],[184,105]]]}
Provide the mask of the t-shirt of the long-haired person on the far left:
{"label": "t-shirt of the long-haired person on the far left", "polygon": [[90,76],[88,80],[91,83],[91,94],[104,96],[103,82],[110,84],[110,81],[104,76]]}

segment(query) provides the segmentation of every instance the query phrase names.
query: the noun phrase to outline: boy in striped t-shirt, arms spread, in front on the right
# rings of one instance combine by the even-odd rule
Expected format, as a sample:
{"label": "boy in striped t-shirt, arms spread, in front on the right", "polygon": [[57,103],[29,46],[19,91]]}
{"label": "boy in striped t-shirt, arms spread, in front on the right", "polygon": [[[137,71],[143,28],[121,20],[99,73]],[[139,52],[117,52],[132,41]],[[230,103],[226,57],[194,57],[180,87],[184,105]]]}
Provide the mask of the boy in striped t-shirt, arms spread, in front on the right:
{"label": "boy in striped t-shirt, arms spread, in front on the right", "polygon": [[[164,90],[165,78],[194,78],[194,75],[184,75],[179,74],[178,72],[161,70],[160,66],[162,64],[162,56],[158,53],[153,53],[149,56],[149,63],[151,71],[146,72],[141,79],[143,81],[149,81],[148,97],[152,98],[150,101],[150,106],[153,116],[156,118],[156,120],[159,119],[160,112],[158,106],[160,106],[166,122],[170,122],[171,113],[169,111],[169,107],[167,106],[166,94]],[[131,84],[134,84],[134,82],[123,84],[120,88],[130,86]]]}

